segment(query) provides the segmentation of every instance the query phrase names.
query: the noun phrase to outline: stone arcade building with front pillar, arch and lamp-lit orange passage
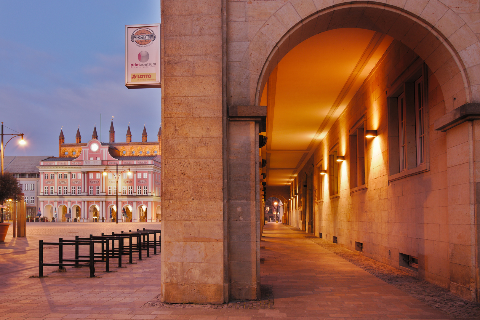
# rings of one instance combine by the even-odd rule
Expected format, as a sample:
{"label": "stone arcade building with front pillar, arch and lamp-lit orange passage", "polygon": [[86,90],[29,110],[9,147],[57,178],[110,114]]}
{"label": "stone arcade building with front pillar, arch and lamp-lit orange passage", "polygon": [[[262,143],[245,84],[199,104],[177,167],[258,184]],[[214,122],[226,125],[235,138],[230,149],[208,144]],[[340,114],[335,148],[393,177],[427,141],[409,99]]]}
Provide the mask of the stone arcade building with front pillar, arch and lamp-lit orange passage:
{"label": "stone arcade building with front pillar, arch and lamp-lit orange passage", "polygon": [[256,299],[283,223],[479,300],[478,1],[162,2],[165,302]]}

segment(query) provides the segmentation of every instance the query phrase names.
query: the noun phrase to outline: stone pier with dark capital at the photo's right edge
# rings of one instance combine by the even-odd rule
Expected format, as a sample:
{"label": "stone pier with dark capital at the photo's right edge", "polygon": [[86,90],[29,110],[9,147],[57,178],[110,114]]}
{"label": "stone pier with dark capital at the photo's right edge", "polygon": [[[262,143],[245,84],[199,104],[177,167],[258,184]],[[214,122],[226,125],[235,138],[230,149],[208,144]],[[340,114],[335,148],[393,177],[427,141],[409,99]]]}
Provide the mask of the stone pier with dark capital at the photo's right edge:
{"label": "stone pier with dark capital at the photo's right edge", "polygon": [[[440,237],[448,237],[450,291],[478,301],[480,203],[480,104],[466,104],[434,123],[446,132],[448,224],[440,225]],[[432,151],[431,151],[432,152]]]}

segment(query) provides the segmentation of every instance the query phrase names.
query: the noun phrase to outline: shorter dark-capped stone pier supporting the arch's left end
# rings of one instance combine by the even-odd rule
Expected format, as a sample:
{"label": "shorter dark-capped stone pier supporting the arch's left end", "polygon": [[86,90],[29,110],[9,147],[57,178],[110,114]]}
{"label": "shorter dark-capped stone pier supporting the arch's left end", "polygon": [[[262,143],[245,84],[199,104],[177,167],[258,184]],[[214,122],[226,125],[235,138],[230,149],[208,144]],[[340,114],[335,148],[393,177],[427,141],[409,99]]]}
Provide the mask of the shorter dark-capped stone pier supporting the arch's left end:
{"label": "shorter dark-capped stone pier supporting the arch's left end", "polygon": [[228,276],[232,299],[260,298],[260,152],[265,106],[228,107]]}

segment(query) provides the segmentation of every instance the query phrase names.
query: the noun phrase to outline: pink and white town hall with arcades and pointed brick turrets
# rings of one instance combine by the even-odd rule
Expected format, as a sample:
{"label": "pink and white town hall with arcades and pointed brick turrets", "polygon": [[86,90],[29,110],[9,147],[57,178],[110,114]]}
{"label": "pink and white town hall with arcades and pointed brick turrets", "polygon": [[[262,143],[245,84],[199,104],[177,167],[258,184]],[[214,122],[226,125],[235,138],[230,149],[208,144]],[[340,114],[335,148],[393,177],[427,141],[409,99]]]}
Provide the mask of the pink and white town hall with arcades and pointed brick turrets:
{"label": "pink and white town hall with arcades and pointed brick turrets", "polygon": [[42,216],[49,221],[115,221],[118,193],[119,221],[160,221],[161,129],[155,142],[147,142],[145,128],[142,142],[132,142],[129,126],[126,142],[115,142],[112,122],[108,143],[98,140],[96,128],[90,141],[81,139],[77,130],[76,143],[64,143],[60,131],[59,157],[39,162]]}

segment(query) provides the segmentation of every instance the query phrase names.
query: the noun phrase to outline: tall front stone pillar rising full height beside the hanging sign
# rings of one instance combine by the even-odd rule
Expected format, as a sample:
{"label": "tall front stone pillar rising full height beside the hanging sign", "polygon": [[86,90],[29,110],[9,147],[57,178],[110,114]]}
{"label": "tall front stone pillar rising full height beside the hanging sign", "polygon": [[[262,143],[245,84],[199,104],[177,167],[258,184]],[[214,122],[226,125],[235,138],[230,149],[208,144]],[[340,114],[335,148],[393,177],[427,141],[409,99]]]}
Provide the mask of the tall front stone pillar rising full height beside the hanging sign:
{"label": "tall front stone pillar rising full height beside the hanging sign", "polygon": [[165,302],[223,303],[222,0],[162,1]]}

